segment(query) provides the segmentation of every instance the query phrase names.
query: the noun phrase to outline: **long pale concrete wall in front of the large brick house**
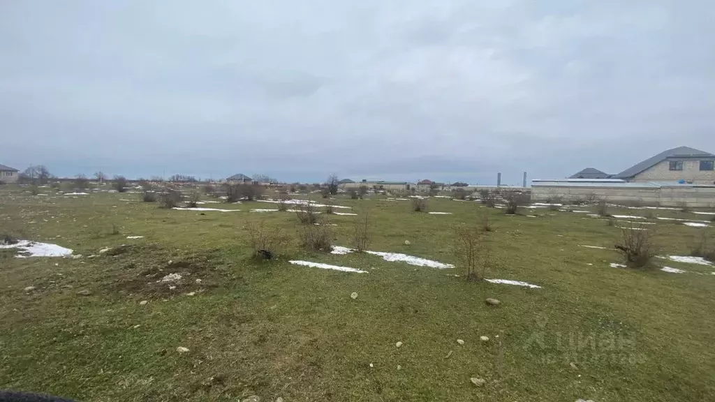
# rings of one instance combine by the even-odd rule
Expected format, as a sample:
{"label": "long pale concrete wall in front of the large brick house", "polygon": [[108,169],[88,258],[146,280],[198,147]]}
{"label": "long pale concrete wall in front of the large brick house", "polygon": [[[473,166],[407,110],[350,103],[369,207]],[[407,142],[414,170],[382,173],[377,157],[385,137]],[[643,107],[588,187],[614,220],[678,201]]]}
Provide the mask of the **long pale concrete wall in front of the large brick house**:
{"label": "long pale concrete wall in front of the large brick house", "polygon": [[587,187],[540,185],[531,187],[531,201],[561,198],[564,202],[606,200],[607,202],[641,202],[663,207],[715,208],[715,187]]}

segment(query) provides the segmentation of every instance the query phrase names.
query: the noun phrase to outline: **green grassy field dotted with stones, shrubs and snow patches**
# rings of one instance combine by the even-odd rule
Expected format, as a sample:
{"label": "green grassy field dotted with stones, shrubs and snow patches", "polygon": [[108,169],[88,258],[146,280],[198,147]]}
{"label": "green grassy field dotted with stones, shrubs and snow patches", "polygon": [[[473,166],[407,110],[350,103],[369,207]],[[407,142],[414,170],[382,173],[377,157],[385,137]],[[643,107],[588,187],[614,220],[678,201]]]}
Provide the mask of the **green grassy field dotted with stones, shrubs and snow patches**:
{"label": "green grassy field dotted with stones, shrubs and snow patches", "polygon": [[[495,264],[486,277],[541,286],[529,289],[467,282],[455,277],[459,266],[307,253],[295,214],[249,212],[275,207],[262,202],[196,212],[162,210],[139,194],[46,193],[0,187],[0,232],[83,257],[0,250],[0,388],[107,402],[715,400],[715,267],[659,259],[687,272],[611,268],[621,262],[615,251],[579,245],[613,247],[621,230],[585,213],[506,216],[431,198],[430,211],[452,215],[428,215],[405,201],[334,201],[358,213],[330,216],[336,245],[350,246],[353,222],[368,213],[370,250],[455,265],[454,225],[478,226],[488,215]],[[244,227],[260,220],[292,238],[277,260],[251,259]],[[661,255],[689,255],[706,230],[647,222],[657,223]],[[127,239],[134,235],[144,237]],[[113,248],[100,255],[103,247]],[[157,283],[169,273],[182,275],[174,290]]]}

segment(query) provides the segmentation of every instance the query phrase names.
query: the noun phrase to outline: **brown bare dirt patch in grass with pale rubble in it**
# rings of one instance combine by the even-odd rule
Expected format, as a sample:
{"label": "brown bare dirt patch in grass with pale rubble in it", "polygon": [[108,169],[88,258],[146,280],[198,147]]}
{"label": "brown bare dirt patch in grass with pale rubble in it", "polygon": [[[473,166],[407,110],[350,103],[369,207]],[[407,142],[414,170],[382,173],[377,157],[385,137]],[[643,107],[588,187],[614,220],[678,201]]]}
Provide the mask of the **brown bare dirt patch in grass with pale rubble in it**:
{"label": "brown bare dirt patch in grass with pale rubble in it", "polygon": [[111,263],[102,288],[112,293],[170,298],[201,293],[227,281],[217,250],[177,256],[154,245],[129,245],[106,254]]}

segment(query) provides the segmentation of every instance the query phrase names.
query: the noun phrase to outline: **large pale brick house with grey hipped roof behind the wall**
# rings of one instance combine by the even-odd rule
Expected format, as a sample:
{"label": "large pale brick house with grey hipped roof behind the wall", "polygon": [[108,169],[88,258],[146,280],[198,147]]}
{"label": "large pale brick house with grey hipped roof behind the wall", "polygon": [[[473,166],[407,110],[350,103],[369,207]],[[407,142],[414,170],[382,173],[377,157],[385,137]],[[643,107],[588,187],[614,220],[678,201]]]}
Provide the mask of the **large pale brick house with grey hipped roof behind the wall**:
{"label": "large pale brick house with grey hipped roof behind the wall", "polygon": [[611,176],[628,182],[715,184],[715,155],[690,147],[668,149]]}

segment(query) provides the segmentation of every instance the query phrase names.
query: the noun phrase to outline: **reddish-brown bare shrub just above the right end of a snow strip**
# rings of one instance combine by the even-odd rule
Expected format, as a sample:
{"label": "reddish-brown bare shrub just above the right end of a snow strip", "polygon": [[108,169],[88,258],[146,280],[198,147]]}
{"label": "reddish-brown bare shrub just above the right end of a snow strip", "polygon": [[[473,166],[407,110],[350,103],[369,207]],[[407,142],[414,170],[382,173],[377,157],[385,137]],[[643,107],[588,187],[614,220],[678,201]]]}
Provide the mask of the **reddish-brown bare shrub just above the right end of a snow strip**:
{"label": "reddish-brown bare shrub just above the right end of a snow strip", "polygon": [[483,280],[491,263],[486,233],[473,227],[455,227],[454,253],[466,280]]}

